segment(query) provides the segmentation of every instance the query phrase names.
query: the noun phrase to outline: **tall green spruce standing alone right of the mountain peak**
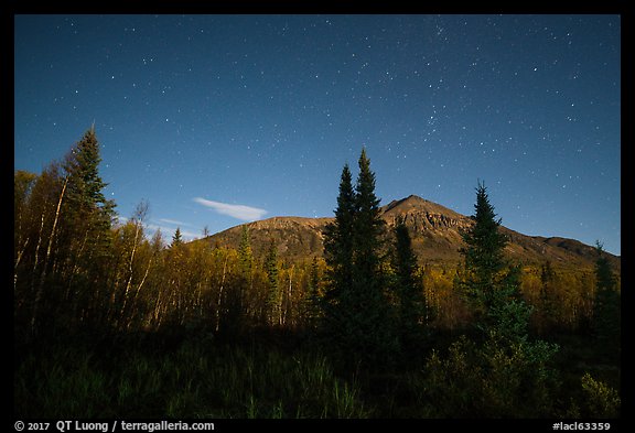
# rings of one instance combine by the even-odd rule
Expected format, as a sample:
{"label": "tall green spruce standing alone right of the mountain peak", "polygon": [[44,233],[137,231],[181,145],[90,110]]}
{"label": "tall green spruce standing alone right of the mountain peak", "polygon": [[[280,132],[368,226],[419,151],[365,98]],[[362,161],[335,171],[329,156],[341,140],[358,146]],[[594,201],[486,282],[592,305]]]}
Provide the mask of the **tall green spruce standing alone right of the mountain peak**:
{"label": "tall green spruce standing alone right of the mountain peak", "polygon": [[462,253],[463,284],[481,332],[474,369],[486,371],[480,386],[497,394],[492,416],[508,416],[519,407],[535,413],[536,408],[552,404],[551,392],[558,387],[552,360],[558,345],[529,338],[531,307],[520,294],[520,267],[504,257],[506,237],[482,183],[473,218],[474,225],[463,234],[466,247]]}

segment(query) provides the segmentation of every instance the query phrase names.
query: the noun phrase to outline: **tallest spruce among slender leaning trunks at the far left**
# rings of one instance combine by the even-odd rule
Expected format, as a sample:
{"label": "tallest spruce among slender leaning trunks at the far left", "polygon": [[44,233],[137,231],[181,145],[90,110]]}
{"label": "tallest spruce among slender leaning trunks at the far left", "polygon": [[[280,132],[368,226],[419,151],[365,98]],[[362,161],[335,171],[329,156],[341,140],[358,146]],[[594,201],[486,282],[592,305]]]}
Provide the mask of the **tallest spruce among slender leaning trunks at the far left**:
{"label": "tallest spruce among slender leaning trunks at the far left", "polygon": [[103,318],[101,306],[108,297],[103,282],[110,272],[115,203],[104,196],[107,184],[99,175],[100,162],[99,142],[92,127],[61,164],[61,187],[35,291],[33,327],[45,286],[57,286],[55,294],[51,293],[56,300],[50,300],[47,306],[57,323],[73,326],[74,321],[88,324]]}

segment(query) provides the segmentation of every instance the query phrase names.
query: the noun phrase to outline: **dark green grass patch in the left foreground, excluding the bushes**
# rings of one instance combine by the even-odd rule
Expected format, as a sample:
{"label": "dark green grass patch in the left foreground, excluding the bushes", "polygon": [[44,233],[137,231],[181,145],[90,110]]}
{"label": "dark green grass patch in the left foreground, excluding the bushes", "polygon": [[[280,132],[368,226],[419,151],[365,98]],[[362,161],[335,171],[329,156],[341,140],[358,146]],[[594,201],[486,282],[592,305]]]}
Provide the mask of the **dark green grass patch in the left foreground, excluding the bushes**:
{"label": "dark green grass patch in the left foreground, excluding the bushes", "polygon": [[366,418],[355,385],[320,355],[184,345],[112,361],[73,348],[28,356],[14,378],[23,418]]}

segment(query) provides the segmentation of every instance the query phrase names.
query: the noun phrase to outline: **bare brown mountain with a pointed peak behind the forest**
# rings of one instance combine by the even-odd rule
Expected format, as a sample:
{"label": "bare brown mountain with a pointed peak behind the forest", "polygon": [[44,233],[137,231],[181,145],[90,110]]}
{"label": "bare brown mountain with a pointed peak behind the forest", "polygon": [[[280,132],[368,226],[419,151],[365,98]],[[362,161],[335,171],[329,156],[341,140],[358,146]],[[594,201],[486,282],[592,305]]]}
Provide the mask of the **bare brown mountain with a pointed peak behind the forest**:
{"label": "bare brown mountain with a pointed peak behind the forest", "polygon": [[[388,227],[398,218],[405,218],[412,238],[412,249],[421,263],[451,264],[462,261],[459,252],[464,246],[461,231],[472,225],[472,218],[416,195],[392,201],[381,207],[381,217]],[[262,257],[271,239],[278,246],[278,256],[289,261],[323,257],[323,232],[334,218],[273,217],[248,223],[251,249]],[[509,237],[506,252],[510,259],[527,264],[542,264],[547,260],[560,267],[592,267],[595,248],[574,239],[527,236],[502,227]],[[237,248],[241,226],[208,236],[197,242],[217,247]],[[621,260],[609,255],[614,269],[621,269]]]}

